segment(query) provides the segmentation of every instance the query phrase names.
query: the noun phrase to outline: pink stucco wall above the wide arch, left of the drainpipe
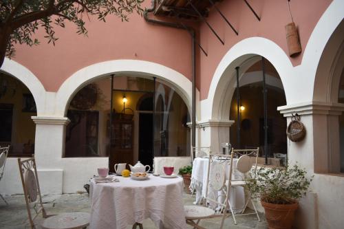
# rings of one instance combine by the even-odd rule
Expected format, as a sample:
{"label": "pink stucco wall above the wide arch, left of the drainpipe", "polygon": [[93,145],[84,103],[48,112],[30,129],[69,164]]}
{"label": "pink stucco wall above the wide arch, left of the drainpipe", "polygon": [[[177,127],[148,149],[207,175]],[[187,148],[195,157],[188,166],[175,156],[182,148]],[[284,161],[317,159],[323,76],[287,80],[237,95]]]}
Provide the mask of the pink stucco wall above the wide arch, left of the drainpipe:
{"label": "pink stucco wall above the wide arch, left of the drainpipe", "polygon": [[76,34],[72,24],[56,28],[55,46],[44,38],[36,47],[18,45],[14,61],[28,67],[47,91],[57,91],[78,69],[116,59],[159,63],[191,79],[191,36],[184,30],[151,25],[137,14],[129,22],[115,17],[107,23],[92,19],[87,29],[88,37]]}

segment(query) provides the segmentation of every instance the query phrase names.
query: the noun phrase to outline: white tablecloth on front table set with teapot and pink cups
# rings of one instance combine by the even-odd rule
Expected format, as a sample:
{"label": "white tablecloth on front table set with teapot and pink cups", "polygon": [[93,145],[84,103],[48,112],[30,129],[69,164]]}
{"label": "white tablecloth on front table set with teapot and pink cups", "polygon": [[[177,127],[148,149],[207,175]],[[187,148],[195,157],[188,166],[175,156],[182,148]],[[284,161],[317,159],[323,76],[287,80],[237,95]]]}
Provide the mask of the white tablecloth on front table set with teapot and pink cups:
{"label": "white tablecloth on front table set with teapot and pink cups", "polygon": [[180,177],[134,180],[116,176],[120,182],[91,182],[90,228],[125,229],[150,218],[158,228],[186,228]]}

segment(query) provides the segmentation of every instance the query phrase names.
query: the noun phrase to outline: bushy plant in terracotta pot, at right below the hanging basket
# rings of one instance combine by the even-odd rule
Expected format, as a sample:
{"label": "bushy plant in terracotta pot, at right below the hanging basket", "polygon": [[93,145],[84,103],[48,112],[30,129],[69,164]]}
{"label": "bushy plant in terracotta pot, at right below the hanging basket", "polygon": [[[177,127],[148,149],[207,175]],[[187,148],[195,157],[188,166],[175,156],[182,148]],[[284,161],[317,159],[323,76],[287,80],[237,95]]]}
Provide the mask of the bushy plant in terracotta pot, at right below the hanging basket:
{"label": "bushy plant in terracotta pot, at right below the hanging basket", "polygon": [[251,171],[247,188],[252,197],[258,197],[264,207],[268,228],[292,227],[299,199],[306,194],[312,177],[297,164],[292,167],[257,168]]}

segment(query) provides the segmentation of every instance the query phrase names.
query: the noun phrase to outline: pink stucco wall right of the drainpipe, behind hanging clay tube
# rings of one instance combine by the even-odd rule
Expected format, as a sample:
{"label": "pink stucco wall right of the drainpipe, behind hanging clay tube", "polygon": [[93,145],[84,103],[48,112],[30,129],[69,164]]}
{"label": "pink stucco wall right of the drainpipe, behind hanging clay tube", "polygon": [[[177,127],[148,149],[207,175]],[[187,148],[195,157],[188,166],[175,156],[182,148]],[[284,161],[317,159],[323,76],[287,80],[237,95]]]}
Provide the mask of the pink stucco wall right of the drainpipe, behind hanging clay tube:
{"label": "pink stucco wall right of the drainpipe, behind hanging clay tube", "polygon": [[[225,41],[222,45],[216,36],[204,23],[200,25],[200,43],[205,47],[208,56],[200,55],[200,98],[208,96],[209,85],[213,74],[222,57],[230,47],[239,41],[252,36],[260,36],[277,43],[288,55],[285,25],[291,22],[287,0],[249,0],[255,12],[261,18],[258,21],[255,15],[246,6],[244,1],[222,1],[219,9],[228,21],[237,29],[239,36],[226,24],[215,10],[211,11],[208,22],[213,26],[217,34]],[[316,23],[330,5],[332,0],[299,0],[290,1],[290,10],[294,22],[299,29],[299,37],[302,50],[310,38]],[[289,55],[288,55],[289,56]],[[292,65],[301,64],[303,52],[299,56],[290,58]]]}

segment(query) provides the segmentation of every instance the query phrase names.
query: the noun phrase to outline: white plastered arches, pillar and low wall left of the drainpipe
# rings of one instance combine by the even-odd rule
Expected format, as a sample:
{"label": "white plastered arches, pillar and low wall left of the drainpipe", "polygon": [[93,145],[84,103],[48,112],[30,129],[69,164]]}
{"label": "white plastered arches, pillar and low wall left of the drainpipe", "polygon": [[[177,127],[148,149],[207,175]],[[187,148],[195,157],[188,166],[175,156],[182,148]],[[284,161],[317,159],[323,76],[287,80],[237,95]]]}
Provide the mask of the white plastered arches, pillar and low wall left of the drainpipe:
{"label": "white plastered arches, pillar and low wall left of the drainpipe", "polygon": [[[37,116],[32,117],[36,123],[35,158],[43,194],[76,193],[83,190],[83,184],[87,184],[89,178],[97,173],[96,168],[108,166],[108,157],[63,157],[65,125],[69,122],[64,116],[69,100],[78,89],[92,80],[110,74],[155,76],[173,86],[191,110],[191,81],[169,67],[147,61],[117,60],[90,65],[67,78],[57,92],[45,91],[41,82],[29,69],[8,58],[4,61],[1,71],[21,80],[34,96],[37,107]],[[198,91],[196,98],[199,101]],[[8,159],[0,193],[23,193],[17,158]]]}

